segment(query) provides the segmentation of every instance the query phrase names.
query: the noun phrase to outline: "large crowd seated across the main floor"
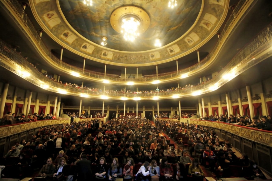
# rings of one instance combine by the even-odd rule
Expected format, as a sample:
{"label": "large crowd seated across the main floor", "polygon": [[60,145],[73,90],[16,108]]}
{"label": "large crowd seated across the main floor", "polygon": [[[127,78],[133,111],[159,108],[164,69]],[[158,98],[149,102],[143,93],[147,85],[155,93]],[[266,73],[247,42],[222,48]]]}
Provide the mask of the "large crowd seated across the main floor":
{"label": "large crowd seated across the main floor", "polygon": [[[188,137],[189,153],[181,149],[181,140],[177,140],[174,148],[166,135],[172,139],[178,135]],[[192,160],[188,154],[195,158]],[[16,142],[4,157],[18,157],[13,163],[18,173],[25,172],[18,166],[20,163],[30,165],[30,172],[39,169],[38,177],[58,180],[122,177],[164,181],[188,176],[203,180],[200,165],[204,162],[209,163],[212,172],[224,177],[230,174],[228,166],[235,164],[249,166],[250,173],[255,173],[252,177],[265,178],[245,154],[237,159],[230,143],[226,140],[222,145],[213,130],[173,120],[156,119],[153,124],[144,117],[133,116],[109,120],[101,128],[96,119],[43,127],[31,140]]]}

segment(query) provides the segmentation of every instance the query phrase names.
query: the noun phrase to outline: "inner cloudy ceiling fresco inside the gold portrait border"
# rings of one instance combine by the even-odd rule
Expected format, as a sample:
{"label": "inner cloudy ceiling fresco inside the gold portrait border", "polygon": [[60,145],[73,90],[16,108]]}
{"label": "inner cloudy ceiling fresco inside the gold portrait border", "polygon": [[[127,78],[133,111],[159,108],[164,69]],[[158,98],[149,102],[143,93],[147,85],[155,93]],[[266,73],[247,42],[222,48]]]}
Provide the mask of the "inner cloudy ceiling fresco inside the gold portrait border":
{"label": "inner cloudy ceiling fresco inside the gold portrait border", "polygon": [[[120,51],[146,51],[154,49],[155,38],[160,38],[162,45],[181,37],[196,21],[202,1],[180,1],[175,9],[165,8],[165,0],[143,1],[105,1],[86,6],[83,1],[59,1],[63,15],[68,23],[88,40],[100,44],[101,36],[107,36],[107,48]],[[120,6],[141,7],[150,17],[150,26],[134,42],[125,41],[123,35],[116,32],[110,24],[110,15]]]}

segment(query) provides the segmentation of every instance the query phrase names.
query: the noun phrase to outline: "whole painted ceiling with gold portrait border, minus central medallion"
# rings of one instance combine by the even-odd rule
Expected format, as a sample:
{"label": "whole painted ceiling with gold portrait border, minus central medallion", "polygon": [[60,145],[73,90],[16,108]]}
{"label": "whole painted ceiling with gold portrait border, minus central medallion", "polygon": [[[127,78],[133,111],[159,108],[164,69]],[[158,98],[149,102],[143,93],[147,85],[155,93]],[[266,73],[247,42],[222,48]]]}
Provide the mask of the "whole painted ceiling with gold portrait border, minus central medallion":
{"label": "whole painted ceiling with gold portrait border, minus central medallion", "polygon": [[[33,0],[32,13],[53,40],[86,59],[121,66],[146,66],[169,62],[196,51],[216,33],[226,18],[229,0]],[[99,2],[99,3],[98,3]],[[127,42],[110,23],[113,11],[136,6],[147,12],[149,27]],[[100,45],[101,36],[108,44]],[[155,38],[162,47],[154,47]]]}

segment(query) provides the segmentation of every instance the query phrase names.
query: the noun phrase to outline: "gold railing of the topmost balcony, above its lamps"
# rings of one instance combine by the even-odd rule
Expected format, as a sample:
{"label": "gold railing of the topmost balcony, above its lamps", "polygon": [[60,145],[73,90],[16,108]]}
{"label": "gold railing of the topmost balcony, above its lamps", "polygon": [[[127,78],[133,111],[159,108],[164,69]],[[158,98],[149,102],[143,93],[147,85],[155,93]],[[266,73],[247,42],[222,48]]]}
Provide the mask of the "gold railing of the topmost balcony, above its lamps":
{"label": "gold railing of the topmost balcony, above its lamps", "polygon": [[[233,9],[231,15],[229,16],[227,22],[224,25],[224,28],[221,32],[221,35],[215,44],[215,47],[213,50],[209,53],[207,57],[205,57],[202,61],[199,63],[192,65],[188,68],[181,69],[178,72],[171,73],[171,74],[165,74],[165,75],[159,75],[158,77],[147,77],[147,78],[118,78],[118,77],[112,77],[112,76],[104,76],[101,74],[96,74],[90,71],[83,71],[83,69],[80,69],[78,67],[69,65],[63,61],[60,61],[57,57],[55,57],[51,51],[46,47],[45,43],[41,40],[39,33],[37,32],[36,28],[28,18],[28,15],[25,13],[21,5],[17,0],[4,0],[4,5],[7,5],[10,7],[10,11],[15,12],[17,15],[17,21],[21,21],[21,23],[25,27],[25,31],[28,31],[29,36],[35,41],[32,43],[35,44],[35,48],[37,51],[41,54],[42,57],[51,65],[57,66],[62,68],[62,71],[66,71],[67,73],[73,71],[78,74],[80,74],[81,77],[91,79],[94,81],[103,81],[104,79],[109,80],[110,82],[119,82],[122,84],[125,84],[125,82],[135,82],[135,84],[147,84],[148,82],[152,82],[155,80],[169,80],[169,79],[179,79],[181,78],[181,75],[188,74],[189,76],[199,72],[200,69],[205,69],[208,67],[213,61],[215,61],[216,57],[218,56],[221,47],[228,39],[228,36],[232,32],[232,29],[236,26],[236,23],[238,22],[237,19],[241,16],[241,12],[244,12],[249,4],[251,4],[251,0],[240,0],[235,8]],[[14,15],[15,16],[15,15]],[[53,64],[52,64],[53,63]],[[168,95],[168,93],[167,93]]]}

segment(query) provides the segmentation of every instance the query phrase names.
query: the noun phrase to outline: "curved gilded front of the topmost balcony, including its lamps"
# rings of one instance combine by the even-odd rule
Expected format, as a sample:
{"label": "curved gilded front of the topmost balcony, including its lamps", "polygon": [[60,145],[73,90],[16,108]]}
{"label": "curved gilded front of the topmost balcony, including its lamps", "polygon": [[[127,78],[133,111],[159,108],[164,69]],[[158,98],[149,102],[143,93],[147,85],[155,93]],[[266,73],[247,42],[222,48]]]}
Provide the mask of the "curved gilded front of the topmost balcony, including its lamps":
{"label": "curved gilded front of the topmost balcony, including its lamps", "polygon": [[[132,84],[146,85],[146,84],[158,84],[163,82],[179,80],[182,78],[195,75],[199,73],[200,71],[207,69],[212,63],[215,62],[225,42],[227,41],[229,36],[232,34],[233,29],[239,23],[241,17],[243,17],[244,13],[247,11],[252,1],[240,0],[237,3],[233,11],[231,12],[231,15],[229,16],[228,20],[225,23],[224,28],[221,32],[221,35],[215,47],[209,53],[209,55],[205,57],[202,61],[200,61],[199,63],[193,66],[178,70],[176,72],[170,72],[169,74],[161,74],[158,76],[144,77],[144,78],[119,78],[118,76],[103,75],[101,73],[98,74],[96,72],[91,72],[86,69],[83,70],[78,67],[71,66],[63,61],[60,61],[57,57],[55,57],[51,53],[51,51],[46,47],[45,43],[41,40],[34,25],[31,23],[30,19],[28,18],[25,11],[23,11],[19,3],[17,1],[3,1],[3,3],[8,9],[8,11],[10,11],[11,14],[14,16],[16,21],[18,21],[18,23],[22,27],[22,30],[27,34],[28,39],[31,41],[32,45],[36,48],[36,51],[40,54],[41,57],[43,57],[43,59],[47,63],[49,63],[49,65],[53,67],[58,67],[60,71],[66,72],[67,74],[76,75],[80,78],[92,80],[96,82],[107,82],[107,83],[115,83],[115,84],[123,84],[123,85],[132,85]],[[176,58],[178,57],[174,57],[174,59]],[[168,59],[165,59],[165,60],[168,61]],[[157,64],[160,62],[155,62],[155,63]],[[116,62],[114,64],[116,64]],[[134,66],[134,65],[129,64],[129,66]],[[141,65],[137,64],[137,66],[141,66]],[[109,96],[114,96],[114,95],[109,95]]]}

